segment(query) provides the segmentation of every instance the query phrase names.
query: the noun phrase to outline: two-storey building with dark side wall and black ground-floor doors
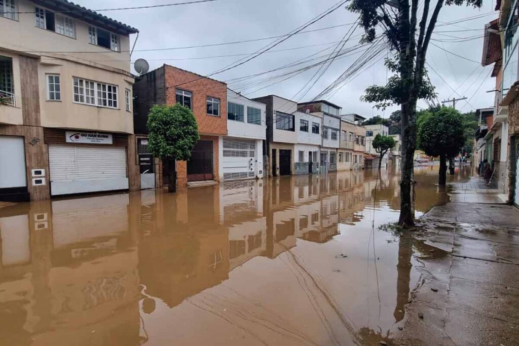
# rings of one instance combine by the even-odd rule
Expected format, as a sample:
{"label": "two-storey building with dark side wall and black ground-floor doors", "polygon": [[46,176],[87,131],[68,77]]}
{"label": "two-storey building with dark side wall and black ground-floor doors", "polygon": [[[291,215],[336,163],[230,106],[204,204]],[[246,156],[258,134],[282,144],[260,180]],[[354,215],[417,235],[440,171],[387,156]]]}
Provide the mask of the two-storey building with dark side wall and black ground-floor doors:
{"label": "two-storey building with dark side wall and black ground-floor doors", "polygon": [[294,144],[297,143],[297,103],[276,95],[255,98],[253,101],[266,105],[268,176],[292,175],[294,167]]}

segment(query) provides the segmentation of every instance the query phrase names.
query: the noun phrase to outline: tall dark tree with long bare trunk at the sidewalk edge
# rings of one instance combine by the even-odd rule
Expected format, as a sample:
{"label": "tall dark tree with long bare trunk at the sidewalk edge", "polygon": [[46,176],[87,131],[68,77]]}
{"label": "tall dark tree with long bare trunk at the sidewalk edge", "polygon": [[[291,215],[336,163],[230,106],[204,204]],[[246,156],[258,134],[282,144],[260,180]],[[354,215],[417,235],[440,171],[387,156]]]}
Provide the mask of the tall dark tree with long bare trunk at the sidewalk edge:
{"label": "tall dark tree with long bare trunk at the sidewalk edge", "polygon": [[381,36],[387,38],[389,49],[393,52],[392,57],[386,59],[386,66],[393,75],[388,78],[385,86],[368,87],[362,100],[373,102],[378,108],[391,105],[401,107],[402,177],[399,224],[406,228],[414,226],[411,183],[416,149],[416,103],[419,99],[432,100],[434,97],[434,88],[429,79],[424,78],[431,35],[444,6],[467,4],[481,7],[483,2],[435,1],[434,5],[431,0],[351,0],[348,6],[351,11],[360,13],[360,25],[364,29],[362,41],[378,40],[380,33],[377,30],[380,30]]}

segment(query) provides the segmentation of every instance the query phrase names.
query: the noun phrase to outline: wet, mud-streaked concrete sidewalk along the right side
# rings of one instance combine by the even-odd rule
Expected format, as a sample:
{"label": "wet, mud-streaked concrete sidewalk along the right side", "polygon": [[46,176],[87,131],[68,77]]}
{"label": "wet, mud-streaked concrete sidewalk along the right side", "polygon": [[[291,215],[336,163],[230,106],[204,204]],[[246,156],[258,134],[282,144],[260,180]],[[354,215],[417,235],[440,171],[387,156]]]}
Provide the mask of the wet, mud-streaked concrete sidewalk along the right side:
{"label": "wet, mud-streaked concrete sidewalk along the right side", "polygon": [[498,194],[480,187],[454,186],[455,202],[402,233],[421,278],[393,344],[519,344],[519,210],[491,204]]}

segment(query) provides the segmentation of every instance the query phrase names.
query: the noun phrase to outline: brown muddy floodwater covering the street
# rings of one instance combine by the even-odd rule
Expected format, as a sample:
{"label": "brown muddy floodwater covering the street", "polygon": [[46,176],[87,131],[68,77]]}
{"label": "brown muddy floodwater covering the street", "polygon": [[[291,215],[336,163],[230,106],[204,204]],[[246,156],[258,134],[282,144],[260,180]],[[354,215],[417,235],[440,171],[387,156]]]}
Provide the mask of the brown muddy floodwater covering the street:
{"label": "brown muddy floodwater covering the street", "polygon": [[[417,216],[446,202],[437,168],[415,179]],[[390,340],[420,280],[378,229],[399,205],[396,174],[339,172],[3,207],[0,343]]]}

